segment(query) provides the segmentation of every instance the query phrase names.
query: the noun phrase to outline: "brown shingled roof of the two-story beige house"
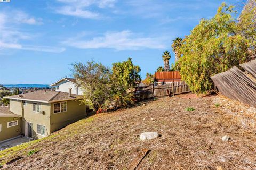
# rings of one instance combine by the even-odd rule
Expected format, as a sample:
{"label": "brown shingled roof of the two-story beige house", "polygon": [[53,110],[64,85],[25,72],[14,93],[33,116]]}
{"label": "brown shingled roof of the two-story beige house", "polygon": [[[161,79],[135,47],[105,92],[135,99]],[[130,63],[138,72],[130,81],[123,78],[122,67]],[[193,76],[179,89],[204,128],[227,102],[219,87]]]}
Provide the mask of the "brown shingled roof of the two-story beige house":
{"label": "brown shingled roof of the two-story beige house", "polygon": [[72,94],[71,97],[69,97],[68,92],[40,90],[35,92],[28,92],[27,94],[5,96],[4,98],[23,101],[37,101],[42,103],[53,103],[57,101],[81,99],[82,97],[82,95],[75,94]]}

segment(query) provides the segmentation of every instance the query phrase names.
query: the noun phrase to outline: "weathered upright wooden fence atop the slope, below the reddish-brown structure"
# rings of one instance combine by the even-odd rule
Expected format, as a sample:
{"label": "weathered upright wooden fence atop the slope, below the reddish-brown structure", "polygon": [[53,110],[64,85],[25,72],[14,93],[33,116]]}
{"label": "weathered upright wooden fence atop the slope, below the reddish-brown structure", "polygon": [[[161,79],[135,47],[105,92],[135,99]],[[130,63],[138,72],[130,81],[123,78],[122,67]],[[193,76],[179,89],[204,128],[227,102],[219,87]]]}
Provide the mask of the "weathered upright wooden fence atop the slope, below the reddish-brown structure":
{"label": "weathered upright wooden fence atop the slope, below the reddish-brown structure", "polygon": [[133,99],[142,101],[154,97],[171,97],[178,94],[190,92],[189,86],[183,82],[171,82],[162,86],[150,86],[133,92]]}

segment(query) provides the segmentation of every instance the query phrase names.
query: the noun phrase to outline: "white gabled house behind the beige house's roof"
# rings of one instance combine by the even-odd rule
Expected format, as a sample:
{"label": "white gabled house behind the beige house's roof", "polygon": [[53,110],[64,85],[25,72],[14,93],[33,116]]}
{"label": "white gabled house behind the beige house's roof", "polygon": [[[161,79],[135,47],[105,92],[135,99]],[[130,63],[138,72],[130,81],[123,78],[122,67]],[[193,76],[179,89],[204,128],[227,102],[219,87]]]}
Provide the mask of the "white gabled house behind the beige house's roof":
{"label": "white gabled house behind the beige house's roof", "polygon": [[78,81],[74,78],[62,78],[57,82],[50,84],[51,88],[55,88],[56,91],[69,92],[71,88],[71,93],[76,95],[82,95],[83,89],[79,85]]}

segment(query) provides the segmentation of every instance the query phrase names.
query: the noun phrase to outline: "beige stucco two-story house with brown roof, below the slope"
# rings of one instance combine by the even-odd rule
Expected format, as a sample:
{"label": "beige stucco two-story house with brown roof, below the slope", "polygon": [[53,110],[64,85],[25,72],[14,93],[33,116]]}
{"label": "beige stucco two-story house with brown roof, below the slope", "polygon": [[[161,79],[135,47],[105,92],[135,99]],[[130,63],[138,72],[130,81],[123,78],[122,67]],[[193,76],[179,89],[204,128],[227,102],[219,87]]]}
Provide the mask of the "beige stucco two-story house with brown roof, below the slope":
{"label": "beige stucco two-story house with brown roof, below the slope", "polygon": [[[82,96],[71,94],[71,89],[69,92],[41,90],[5,98],[10,99],[10,110],[9,117],[1,117],[0,113],[0,141],[21,134],[33,139],[43,138],[87,116]],[[18,123],[13,122],[17,120]],[[10,122],[15,128],[6,128]]]}

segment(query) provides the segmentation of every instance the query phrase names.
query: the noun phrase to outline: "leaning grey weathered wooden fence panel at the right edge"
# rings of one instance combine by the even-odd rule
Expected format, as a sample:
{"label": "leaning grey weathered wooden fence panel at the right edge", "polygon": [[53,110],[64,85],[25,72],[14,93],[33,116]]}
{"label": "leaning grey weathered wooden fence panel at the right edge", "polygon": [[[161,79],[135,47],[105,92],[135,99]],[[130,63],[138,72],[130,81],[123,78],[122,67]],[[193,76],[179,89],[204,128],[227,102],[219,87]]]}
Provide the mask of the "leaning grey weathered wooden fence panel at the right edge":
{"label": "leaning grey weathered wooden fence panel at the right edge", "polygon": [[211,79],[222,95],[256,107],[256,83],[236,66]]}

